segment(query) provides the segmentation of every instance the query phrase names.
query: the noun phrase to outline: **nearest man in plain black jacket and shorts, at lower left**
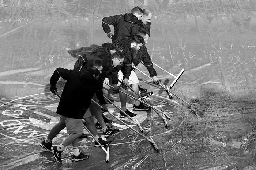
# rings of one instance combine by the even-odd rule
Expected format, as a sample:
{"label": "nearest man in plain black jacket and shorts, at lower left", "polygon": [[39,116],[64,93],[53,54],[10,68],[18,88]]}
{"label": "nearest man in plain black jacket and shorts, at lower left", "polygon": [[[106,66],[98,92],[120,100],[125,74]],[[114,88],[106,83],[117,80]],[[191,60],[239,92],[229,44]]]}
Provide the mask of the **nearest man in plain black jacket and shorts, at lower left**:
{"label": "nearest man in plain black jacket and shorts, at lower left", "polygon": [[60,145],[50,146],[54,159],[58,163],[62,162],[61,154],[63,150],[71,143],[74,151],[72,162],[89,158],[89,155],[79,151],[78,137],[83,134],[82,117],[89,108],[94,93],[96,93],[103,110],[107,110],[106,102],[97,81],[99,75],[97,68],[90,68],[82,72],[57,68],[50,79],[50,91],[54,94],[57,92],[55,85],[59,78],[67,80],[56,112],[61,115],[60,122],[65,122],[67,133],[70,135]]}

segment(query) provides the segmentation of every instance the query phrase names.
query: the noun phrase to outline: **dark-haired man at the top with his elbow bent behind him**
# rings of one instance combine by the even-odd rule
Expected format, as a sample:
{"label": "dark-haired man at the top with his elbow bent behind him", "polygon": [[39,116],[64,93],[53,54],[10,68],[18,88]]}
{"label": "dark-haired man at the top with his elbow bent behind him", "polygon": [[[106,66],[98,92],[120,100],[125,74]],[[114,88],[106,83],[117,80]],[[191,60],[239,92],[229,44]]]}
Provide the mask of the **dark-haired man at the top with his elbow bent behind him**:
{"label": "dark-haired man at the top with his elbow bent behind him", "polygon": [[[142,14],[143,12],[140,7],[134,7],[132,8],[131,13],[104,17],[102,19],[103,30],[109,38],[112,38],[112,41],[121,41],[122,38],[139,31],[139,20]],[[114,26],[114,35],[112,34],[109,25]]]}

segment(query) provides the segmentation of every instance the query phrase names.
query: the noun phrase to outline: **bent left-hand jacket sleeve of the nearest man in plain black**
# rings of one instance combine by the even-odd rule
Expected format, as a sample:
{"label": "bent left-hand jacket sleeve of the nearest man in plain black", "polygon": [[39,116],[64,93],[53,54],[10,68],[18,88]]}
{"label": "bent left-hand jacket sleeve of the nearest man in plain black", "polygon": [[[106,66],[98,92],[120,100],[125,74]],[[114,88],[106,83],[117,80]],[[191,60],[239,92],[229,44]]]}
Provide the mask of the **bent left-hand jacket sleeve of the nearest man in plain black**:
{"label": "bent left-hand jacket sleeve of the nearest man in plain black", "polygon": [[72,70],[64,69],[64,68],[56,68],[56,70],[53,72],[53,75],[50,79],[50,85],[55,86],[59,80],[60,77],[62,77],[64,80],[67,80],[69,75],[71,74]]}

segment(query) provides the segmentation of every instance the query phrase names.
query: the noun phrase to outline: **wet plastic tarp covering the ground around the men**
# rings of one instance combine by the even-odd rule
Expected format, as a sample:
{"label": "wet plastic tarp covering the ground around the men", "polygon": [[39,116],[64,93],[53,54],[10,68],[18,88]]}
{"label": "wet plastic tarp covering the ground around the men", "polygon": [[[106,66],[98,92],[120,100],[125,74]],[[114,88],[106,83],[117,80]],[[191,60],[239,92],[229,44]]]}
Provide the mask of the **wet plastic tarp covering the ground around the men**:
{"label": "wet plastic tarp covering the ground around the men", "polygon": [[[148,101],[171,117],[166,128],[155,111],[137,112],[143,135],[151,136],[160,151],[105,113],[120,129],[107,138],[112,141],[109,162],[89,135],[79,142],[89,159],[71,162],[68,146],[59,164],[39,146],[59,120],[59,98],[49,92],[50,76],[57,67],[73,68],[76,58],[69,50],[90,51],[111,42],[102,18],[135,6],[153,11],[146,44],[151,59],[174,75],[185,69],[172,90],[187,102],[202,101],[208,128],[196,129],[196,120],[184,123],[180,108],[170,104],[186,103],[176,97],[169,100],[163,88],[136,71],[140,85],[154,92]],[[255,9],[255,0],[0,0],[1,169],[255,169]],[[148,73],[142,64],[138,68]],[[155,69],[163,83],[174,80]],[[64,84],[57,84],[60,94]],[[110,97],[120,106],[118,94]],[[128,103],[132,110],[133,100]],[[119,115],[117,108],[108,107]],[[124,121],[139,131],[132,121]],[[191,137],[181,133],[184,127],[203,133]],[[53,145],[65,137],[64,129]]]}

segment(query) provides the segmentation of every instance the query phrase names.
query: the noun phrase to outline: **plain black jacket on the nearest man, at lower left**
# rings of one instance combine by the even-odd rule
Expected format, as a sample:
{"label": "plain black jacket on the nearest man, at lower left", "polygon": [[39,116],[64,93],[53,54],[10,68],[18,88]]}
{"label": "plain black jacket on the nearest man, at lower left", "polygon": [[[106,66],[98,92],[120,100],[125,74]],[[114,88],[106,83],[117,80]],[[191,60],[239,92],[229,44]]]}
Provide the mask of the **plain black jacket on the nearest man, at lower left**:
{"label": "plain black jacket on the nearest man, at lower left", "polygon": [[55,86],[60,77],[67,82],[61,94],[57,114],[68,118],[82,119],[95,93],[99,102],[106,104],[103,92],[99,88],[99,82],[89,71],[57,68],[50,79],[50,84]]}

